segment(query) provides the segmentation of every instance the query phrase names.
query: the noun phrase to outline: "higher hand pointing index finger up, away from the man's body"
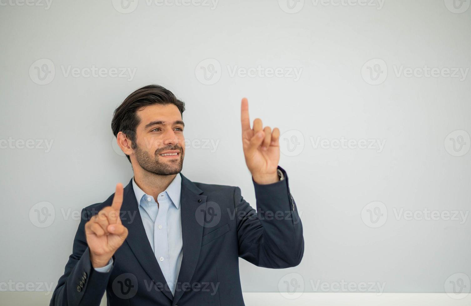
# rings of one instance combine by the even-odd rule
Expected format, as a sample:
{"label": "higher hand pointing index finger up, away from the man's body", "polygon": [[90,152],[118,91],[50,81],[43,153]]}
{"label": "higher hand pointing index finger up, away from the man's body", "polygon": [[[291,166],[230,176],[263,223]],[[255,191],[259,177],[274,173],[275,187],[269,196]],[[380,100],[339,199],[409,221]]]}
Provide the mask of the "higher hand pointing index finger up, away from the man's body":
{"label": "higher hand pointing index finger up, away from the man's body", "polygon": [[276,169],[280,160],[280,130],[262,129],[262,121],[257,118],[250,128],[249,102],[242,99],[241,104],[242,145],[245,163],[258,184],[271,184],[279,181]]}

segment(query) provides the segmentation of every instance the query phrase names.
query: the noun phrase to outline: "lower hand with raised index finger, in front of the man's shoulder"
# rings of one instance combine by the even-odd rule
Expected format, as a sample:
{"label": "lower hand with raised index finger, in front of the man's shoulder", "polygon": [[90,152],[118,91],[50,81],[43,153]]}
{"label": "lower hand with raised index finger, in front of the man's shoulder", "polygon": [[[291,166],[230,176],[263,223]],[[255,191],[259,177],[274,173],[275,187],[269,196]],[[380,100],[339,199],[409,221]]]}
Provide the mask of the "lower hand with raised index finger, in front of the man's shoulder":
{"label": "lower hand with raised index finger, in front of the man's shoulder", "polygon": [[106,266],[128,236],[128,229],[122,225],[119,215],[123,192],[122,184],[118,183],[112,205],[100,210],[85,224],[85,236],[94,268]]}

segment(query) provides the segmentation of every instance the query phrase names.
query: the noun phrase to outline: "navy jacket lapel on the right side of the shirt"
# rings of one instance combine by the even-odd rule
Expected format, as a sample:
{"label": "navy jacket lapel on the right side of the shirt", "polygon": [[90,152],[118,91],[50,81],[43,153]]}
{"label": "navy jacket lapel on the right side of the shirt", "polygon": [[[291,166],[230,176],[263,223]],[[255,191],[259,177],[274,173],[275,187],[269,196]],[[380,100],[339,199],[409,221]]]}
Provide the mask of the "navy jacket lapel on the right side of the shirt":
{"label": "navy jacket lapel on the right side of the shirt", "polygon": [[182,284],[191,281],[198,263],[203,237],[206,196],[193,182],[181,174],[181,232],[183,240],[183,258],[177,280],[177,289],[172,301],[175,305],[183,294]]}

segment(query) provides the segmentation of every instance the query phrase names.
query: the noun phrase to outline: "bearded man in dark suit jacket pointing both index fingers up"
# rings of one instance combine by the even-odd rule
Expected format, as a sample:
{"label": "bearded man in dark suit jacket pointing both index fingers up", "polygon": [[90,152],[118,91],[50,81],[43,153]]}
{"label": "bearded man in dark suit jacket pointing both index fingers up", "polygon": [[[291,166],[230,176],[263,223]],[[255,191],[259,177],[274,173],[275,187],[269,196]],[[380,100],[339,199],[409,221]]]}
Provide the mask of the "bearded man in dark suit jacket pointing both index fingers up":
{"label": "bearded man in dark suit jacket pointing both index fingers up", "polygon": [[185,104],[149,85],[114,111],[112,130],[134,177],[106,201],[82,210],[72,255],[50,305],[244,305],[238,258],[256,266],[297,266],[302,225],[278,166],[279,129],[250,127],[242,99],[242,144],[257,210],[239,187],[190,181]]}

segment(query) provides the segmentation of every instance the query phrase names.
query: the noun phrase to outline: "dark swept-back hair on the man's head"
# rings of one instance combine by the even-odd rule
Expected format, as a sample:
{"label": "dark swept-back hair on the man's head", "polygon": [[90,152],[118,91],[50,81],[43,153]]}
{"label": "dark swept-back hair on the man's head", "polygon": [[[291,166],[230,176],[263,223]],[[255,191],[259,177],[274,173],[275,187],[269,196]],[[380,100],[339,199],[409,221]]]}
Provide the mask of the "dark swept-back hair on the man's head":
{"label": "dark swept-back hair on the man's head", "polygon": [[[131,141],[131,147],[136,148],[136,128],[140,120],[136,112],[144,106],[153,104],[173,104],[178,107],[183,118],[185,111],[185,102],[180,101],[168,89],[160,85],[147,85],[132,92],[113,113],[111,129],[114,137],[122,131]],[[128,161],[131,162],[129,155],[126,154]]]}

